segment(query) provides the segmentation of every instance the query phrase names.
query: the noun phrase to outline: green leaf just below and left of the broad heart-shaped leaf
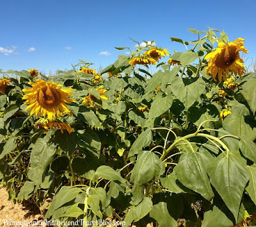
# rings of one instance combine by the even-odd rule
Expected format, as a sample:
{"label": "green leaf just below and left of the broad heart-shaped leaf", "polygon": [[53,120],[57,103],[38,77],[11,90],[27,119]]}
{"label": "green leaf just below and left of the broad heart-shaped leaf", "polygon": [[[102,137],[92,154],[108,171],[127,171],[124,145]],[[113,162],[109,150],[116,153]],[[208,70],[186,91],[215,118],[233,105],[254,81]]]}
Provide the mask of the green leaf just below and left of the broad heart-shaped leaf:
{"label": "green leaf just below and left of the broad heart-shaped leaf", "polygon": [[158,96],[151,104],[150,110],[148,112],[148,116],[150,119],[155,117],[159,117],[164,114],[169,108],[172,106],[173,98],[172,95],[168,94],[165,97]]}

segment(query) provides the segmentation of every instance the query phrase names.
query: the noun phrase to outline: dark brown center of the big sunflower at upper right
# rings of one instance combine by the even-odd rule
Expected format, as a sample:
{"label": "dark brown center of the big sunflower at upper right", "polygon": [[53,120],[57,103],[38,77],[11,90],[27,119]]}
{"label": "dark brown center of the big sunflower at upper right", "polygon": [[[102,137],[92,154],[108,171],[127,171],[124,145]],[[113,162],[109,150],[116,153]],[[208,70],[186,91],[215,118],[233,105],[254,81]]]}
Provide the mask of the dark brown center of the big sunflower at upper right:
{"label": "dark brown center of the big sunflower at upper right", "polygon": [[228,68],[237,59],[237,49],[236,47],[226,47],[218,57],[216,58],[216,66],[219,68]]}

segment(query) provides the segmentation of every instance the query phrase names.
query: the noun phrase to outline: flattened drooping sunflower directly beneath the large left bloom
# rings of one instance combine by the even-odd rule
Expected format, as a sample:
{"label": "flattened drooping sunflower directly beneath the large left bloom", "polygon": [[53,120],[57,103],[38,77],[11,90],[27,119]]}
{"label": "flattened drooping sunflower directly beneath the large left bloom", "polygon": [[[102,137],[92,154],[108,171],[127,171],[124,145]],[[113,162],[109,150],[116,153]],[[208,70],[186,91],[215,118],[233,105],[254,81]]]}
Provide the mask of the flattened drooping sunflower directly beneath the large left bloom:
{"label": "flattened drooping sunflower directly beneath the large left bloom", "polygon": [[61,133],[64,133],[63,130],[66,130],[69,134],[74,132],[74,129],[71,128],[71,126],[65,122],[62,121],[48,121],[47,119],[40,119],[35,123],[35,127],[43,128],[45,130],[57,130],[60,129]]}

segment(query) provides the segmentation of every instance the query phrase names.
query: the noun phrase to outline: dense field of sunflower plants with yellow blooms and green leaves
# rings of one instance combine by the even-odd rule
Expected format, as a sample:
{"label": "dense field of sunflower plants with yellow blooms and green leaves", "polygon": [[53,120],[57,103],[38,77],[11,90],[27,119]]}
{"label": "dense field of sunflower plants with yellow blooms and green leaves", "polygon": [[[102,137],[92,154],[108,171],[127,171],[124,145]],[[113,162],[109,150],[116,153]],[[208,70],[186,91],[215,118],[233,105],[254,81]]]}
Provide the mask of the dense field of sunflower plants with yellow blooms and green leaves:
{"label": "dense field of sunflower plants with yellow blooms and green leaves", "polygon": [[82,226],[256,225],[256,73],[243,38],[189,31],[185,52],[116,47],[131,54],[101,72],[1,71],[10,200]]}

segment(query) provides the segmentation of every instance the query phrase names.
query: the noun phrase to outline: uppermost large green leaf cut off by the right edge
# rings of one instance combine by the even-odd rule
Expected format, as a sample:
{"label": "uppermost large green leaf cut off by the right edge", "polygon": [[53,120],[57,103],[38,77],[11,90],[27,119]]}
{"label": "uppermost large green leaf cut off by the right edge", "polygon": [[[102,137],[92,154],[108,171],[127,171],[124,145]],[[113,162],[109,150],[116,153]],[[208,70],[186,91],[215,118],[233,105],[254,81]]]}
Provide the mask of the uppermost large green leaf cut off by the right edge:
{"label": "uppermost large green leaf cut off by the right edge", "polygon": [[253,114],[256,112],[256,96],[252,94],[256,94],[256,79],[251,79],[246,81],[242,85],[242,90],[240,91],[246,99],[248,105],[250,106]]}

